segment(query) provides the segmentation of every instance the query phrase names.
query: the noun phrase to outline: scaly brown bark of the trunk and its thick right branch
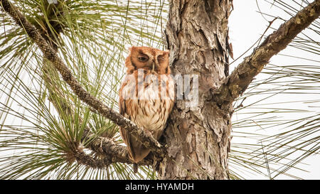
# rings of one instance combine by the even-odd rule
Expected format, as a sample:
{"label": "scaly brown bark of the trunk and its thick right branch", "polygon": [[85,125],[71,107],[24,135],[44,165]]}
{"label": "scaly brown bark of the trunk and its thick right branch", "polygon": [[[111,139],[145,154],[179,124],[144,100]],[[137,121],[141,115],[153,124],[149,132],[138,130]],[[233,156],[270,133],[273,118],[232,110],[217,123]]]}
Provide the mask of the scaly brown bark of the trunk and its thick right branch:
{"label": "scaly brown bark of the trunk and its thick right branch", "polygon": [[273,55],[319,18],[320,1],[270,34],[228,75],[228,16],[232,1],[171,1],[166,43],[174,74],[198,75],[198,107],[178,100],[165,132],[162,179],[226,179],[232,103]]}

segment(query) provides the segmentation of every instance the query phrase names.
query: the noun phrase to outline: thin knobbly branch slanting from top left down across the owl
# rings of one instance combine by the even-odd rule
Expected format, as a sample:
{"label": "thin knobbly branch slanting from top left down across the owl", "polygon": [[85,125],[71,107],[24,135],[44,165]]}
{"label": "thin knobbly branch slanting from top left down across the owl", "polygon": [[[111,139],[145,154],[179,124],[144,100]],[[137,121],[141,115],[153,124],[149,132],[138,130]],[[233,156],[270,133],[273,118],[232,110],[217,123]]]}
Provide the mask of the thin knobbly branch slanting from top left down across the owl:
{"label": "thin knobbly branch slanting from top left down across the owl", "polygon": [[53,63],[53,66],[60,72],[60,75],[63,77],[63,80],[68,83],[70,88],[75,92],[75,95],[85,102],[93,109],[97,110],[103,117],[110,119],[115,124],[122,126],[123,129],[128,130],[133,136],[136,136],[141,143],[149,148],[151,151],[162,155],[164,153],[164,149],[161,148],[161,144],[156,141],[152,136],[149,134],[144,133],[142,129],[139,129],[137,125],[131,122],[129,119],[123,117],[121,114],[114,112],[114,110],[110,109],[109,107],[105,106],[99,99],[90,95],[80,83],[75,79],[72,75],[71,71],[68,67],[63,63],[55,50],[47,43],[47,41],[41,36],[35,26],[29,23],[23,14],[11,4],[7,0],[0,0],[1,6],[12,18],[14,21],[21,26],[28,36],[38,45],[38,48],[43,53],[43,57],[50,60]]}

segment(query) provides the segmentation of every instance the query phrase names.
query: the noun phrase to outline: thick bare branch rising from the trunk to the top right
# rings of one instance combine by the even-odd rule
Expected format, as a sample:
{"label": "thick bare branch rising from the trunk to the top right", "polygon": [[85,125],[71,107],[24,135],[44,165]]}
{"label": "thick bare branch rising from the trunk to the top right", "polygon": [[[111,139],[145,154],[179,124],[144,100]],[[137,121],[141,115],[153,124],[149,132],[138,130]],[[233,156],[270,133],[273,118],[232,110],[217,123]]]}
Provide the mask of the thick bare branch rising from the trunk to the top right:
{"label": "thick bare branch rising from the trunk to the top right", "polygon": [[253,53],[238,65],[233,72],[223,80],[222,85],[213,90],[213,99],[218,104],[232,103],[242,95],[252,82],[253,78],[261,72],[273,55],[286,48],[286,46],[307,26],[320,15],[320,0],[306,6],[296,16],[289,19],[268,36],[265,41],[255,48]]}

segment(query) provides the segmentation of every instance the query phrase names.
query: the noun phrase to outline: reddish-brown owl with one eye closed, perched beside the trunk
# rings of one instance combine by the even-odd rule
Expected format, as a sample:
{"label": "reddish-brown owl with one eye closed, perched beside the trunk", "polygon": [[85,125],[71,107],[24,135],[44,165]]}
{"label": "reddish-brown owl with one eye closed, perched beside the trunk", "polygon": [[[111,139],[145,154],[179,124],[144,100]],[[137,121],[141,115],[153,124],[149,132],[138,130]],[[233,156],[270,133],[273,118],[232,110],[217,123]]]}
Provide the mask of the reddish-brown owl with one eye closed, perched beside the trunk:
{"label": "reddish-brown owl with one eye closed, perched beside the trunk", "polygon": [[[125,66],[127,74],[119,90],[119,112],[158,140],[174,105],[169,51],[133,46],[129,48]],[[121,127],[120,134],[134,163],[149,154],[149,149]],[[135,168],[137,171],[137,164]]]}

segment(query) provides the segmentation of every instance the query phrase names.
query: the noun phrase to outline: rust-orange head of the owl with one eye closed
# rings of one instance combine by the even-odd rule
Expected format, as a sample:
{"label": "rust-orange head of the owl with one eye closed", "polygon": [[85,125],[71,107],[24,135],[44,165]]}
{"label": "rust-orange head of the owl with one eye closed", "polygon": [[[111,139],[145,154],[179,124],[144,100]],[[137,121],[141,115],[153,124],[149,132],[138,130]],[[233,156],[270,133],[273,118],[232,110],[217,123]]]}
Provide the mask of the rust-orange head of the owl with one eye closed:
{"label": "rust-orange head of the owl with one eye closed", "polygon": [[146,46],[132,46],[126,59],[127,73],[143,68],[154,70],[159,75],[170,74],[169,51],[159,50]]}

